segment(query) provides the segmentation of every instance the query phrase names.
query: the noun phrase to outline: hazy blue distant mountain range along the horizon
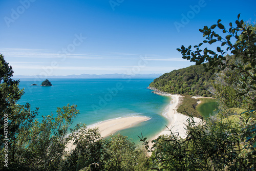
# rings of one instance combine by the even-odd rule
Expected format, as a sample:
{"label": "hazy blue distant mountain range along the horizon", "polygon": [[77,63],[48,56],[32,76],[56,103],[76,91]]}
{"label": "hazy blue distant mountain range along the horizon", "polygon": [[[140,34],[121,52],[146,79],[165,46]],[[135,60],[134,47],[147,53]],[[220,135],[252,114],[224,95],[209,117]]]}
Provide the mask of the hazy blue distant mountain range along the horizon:
{"label": "hazy blue distant mountain range along the horizon", "polygon": [[21,79],[21,78],[157,78],[162,74],[134,74],[134,75],[126,75],[126,74],[81,74],[81,75],[53,75],[53,76],[42,76],[42,75],[14,75],[13,78]]}

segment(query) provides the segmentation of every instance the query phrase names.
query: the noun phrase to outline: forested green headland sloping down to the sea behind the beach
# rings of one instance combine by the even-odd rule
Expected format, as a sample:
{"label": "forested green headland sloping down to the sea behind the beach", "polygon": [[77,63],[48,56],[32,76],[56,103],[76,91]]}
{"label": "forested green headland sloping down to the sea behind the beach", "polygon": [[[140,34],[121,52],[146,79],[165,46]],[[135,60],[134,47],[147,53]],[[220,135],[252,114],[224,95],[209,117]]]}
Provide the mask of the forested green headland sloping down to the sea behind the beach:
{"label": "forested green headland sloping down to the sea behind the beach", "polygon": [[215,74],[205,72],[202,65],[174,70],[156,78],[150,87],[170,94],[189,94],[194,96],[212,96],[208,90]]}

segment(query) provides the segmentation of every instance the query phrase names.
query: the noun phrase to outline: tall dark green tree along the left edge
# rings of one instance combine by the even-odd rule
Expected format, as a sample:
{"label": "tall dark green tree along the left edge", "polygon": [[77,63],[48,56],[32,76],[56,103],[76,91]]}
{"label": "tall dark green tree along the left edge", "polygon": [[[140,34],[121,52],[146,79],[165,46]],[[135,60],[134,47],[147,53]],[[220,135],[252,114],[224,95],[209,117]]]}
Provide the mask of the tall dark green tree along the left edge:
{"label": "tall dark green tree along the left edge", "polygon": [[[24,94],[19,90],[19,80],[13,80],[12,67],[0,54],[0,152],[4,154],[4,143],[8,146],[8,165],[15,162],[17,153],[17,135],[31,125],[37,112],[30,111],[30,105],[18,105],[17,101]],[[0,169],[3,168],[1,156]]]}

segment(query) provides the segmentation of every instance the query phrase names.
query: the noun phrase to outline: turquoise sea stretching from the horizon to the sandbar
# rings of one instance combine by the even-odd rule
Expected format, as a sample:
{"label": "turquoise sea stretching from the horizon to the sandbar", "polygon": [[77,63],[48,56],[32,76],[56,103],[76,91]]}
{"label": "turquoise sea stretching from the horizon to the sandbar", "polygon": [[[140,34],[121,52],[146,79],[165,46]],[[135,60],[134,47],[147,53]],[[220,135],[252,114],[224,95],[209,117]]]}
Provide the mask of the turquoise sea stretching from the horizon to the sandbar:
{"label": "turquoise sea stretching from the horizon to the sandbar", "polygon": [[[19,88],[25,94],[19,104],[30,103],[39,107],[38,120],[42,115],[56,116],[57,107],[76,104],[80,114],[76,123],[92,125],[100,121],[127,116],[146,116],[151,119],[120,133],[139,144],[138,136],[152,137],[165,128],[168,121],[162,112],[170,98],[151,93],[146,89],[154,78],[102,78],[102,79],[49,79],[52,87],[30,86],[40,84],[35,79],[20,79]],[[71,127],[72,127],[71,126]]]}

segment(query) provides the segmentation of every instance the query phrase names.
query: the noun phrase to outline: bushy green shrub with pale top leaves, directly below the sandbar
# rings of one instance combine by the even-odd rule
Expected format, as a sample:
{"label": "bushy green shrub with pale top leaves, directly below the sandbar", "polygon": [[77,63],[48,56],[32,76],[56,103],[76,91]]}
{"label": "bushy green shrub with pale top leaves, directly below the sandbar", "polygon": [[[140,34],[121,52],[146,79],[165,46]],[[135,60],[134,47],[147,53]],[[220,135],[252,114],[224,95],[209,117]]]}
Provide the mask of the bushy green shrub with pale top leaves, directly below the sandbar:
{"label": "bushy green shrub with pale top leaves, directly below the sandbar", "polygon": [[99,163],[103,152],[103,140],[98,129],[87,129],[84,124],[77,124],[71,129],[69,142],[76,147],[66,155],[61,170],[80,170],[92,163]]}

